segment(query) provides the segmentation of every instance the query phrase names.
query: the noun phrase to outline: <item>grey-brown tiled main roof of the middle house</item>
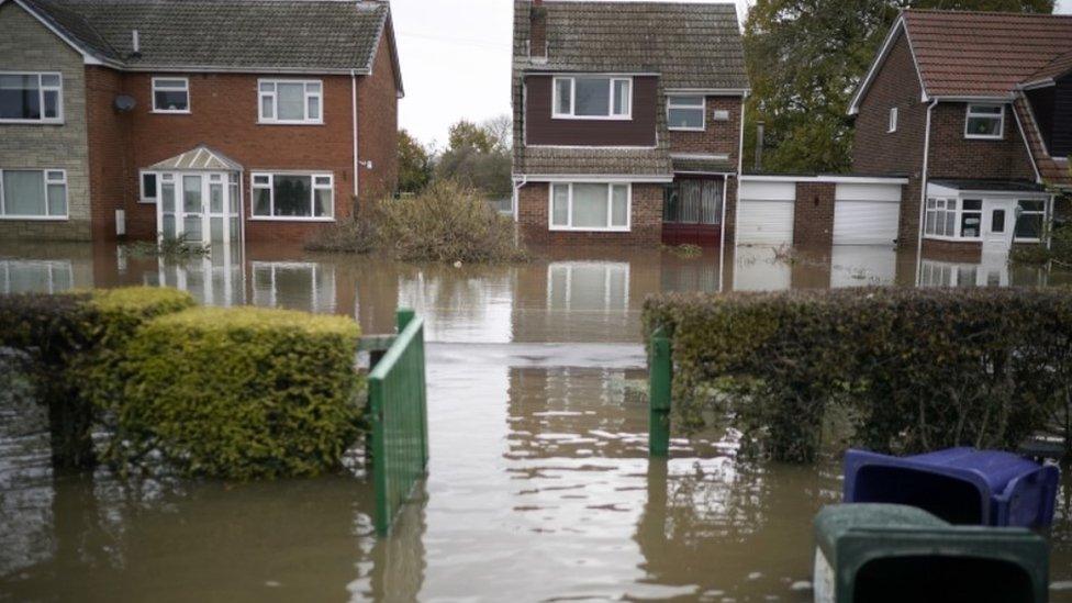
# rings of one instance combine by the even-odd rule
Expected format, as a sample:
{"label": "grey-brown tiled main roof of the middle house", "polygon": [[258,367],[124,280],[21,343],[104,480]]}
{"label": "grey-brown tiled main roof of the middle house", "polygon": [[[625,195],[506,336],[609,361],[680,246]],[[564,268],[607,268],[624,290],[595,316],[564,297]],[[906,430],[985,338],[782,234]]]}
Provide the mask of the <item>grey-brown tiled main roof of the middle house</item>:
{"label": "grey-brown tiled main roof of the middle house", "polygon": [[547,60],[528,57],[528,0],[514,2],[514,68],[657,72],[666,88],[748,88],[730,3],[544,2]]}

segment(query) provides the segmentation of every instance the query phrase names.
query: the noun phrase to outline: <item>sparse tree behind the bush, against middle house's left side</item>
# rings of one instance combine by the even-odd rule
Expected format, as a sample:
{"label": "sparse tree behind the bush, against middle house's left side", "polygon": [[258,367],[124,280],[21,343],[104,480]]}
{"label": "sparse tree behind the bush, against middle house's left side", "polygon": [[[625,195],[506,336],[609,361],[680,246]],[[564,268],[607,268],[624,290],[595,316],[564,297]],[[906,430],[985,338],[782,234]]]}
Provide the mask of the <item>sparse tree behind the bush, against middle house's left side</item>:
{"label": "sparse tree behind the bush, against middle house's left side", "polygon": [[439,157],[436,177],[454,179],[492,198],[511,194],[511,120],[502,115],[480,125],[450,126],[449,147]]}

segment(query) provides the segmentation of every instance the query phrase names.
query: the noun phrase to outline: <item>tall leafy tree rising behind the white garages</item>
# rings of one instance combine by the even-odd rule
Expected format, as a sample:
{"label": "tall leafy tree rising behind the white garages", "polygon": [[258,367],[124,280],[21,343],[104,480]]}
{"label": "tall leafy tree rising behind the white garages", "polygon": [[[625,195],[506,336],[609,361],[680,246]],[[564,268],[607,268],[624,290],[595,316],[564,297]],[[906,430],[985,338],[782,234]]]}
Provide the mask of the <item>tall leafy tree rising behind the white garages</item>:
{"label": "tall leafy tree rising behind the white garages", "polygon": [[745,163],[755,160],[756,123],[766,123],[764,171],[844,171],[851,164],[847,116],[902,9],[1053,12],[1053,0],[757,0],[745,20],[752,96]]}

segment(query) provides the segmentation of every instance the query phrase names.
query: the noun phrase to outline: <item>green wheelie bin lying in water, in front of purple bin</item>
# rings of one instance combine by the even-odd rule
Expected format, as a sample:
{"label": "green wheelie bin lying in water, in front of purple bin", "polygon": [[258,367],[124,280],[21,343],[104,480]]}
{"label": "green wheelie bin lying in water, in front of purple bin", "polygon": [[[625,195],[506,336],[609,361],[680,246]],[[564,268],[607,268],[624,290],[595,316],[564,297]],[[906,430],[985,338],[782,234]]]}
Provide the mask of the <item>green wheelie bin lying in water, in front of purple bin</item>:
{"label": "green wheelie bin lying in water, in front of purple bin", "polygon": [[815,517],[816,603],[1045,603],[1046,540],[953,526],[913,506],[837,504]]}

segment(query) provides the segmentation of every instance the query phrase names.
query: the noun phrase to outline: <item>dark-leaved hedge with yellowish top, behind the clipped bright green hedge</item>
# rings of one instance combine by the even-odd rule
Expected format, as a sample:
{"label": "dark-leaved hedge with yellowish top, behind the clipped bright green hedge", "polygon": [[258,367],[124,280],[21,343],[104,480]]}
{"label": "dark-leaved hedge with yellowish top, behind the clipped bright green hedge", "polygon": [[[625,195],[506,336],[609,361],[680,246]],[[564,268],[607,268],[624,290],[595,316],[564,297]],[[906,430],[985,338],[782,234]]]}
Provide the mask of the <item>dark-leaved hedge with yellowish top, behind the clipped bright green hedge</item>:
{"label": "dark-leaved hedge with yellowish top, behind the clipped bright green hedge", "polygon": [[22,367],[48,409],[57,468],[94,464],[93,401],[108,393],[96,378],[146,320],[193,305],[189,293],[134,287],[58,295],[0,295],[0,346],[29,354]]}

